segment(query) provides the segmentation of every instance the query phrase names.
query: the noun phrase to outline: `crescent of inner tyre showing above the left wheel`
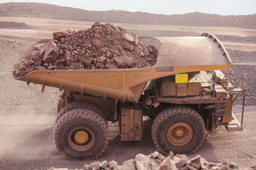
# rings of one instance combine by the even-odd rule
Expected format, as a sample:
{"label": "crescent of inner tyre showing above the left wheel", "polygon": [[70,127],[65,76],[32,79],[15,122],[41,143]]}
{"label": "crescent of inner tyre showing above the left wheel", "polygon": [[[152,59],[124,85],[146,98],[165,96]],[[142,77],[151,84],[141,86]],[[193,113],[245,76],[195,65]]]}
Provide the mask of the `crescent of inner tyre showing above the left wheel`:
{"label": "crescent of inner tyre showing above the left wheel", "polygon": [[68,103],[65,107],[63,107],[60,112],[58,113],[55,122],[58,122],[60,117],[67,113],[67,111],[74,110],[74,109],[87,109],[87,110],[92,110],[98,113],[106,122],[108,122],[106,115],[94,104],[88,103],[88,102],[73,102],[73,103]]}

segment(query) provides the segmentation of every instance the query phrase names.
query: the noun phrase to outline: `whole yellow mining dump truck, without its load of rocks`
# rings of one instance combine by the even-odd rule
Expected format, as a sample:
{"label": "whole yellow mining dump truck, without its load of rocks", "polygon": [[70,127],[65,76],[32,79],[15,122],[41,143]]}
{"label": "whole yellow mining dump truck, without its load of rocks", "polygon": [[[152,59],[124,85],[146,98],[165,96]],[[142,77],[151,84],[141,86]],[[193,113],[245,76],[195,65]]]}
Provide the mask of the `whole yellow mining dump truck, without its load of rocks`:
{"label": "whole yellow mining dump truck, without its load of rocks", "polygon": [[[70,159],[95,159],[108,145],[108,121],[121,141],[140,141],[143,116],[154,119],[159,152],[194,153],[218,126],[243,131],[244,76],[236,78],[220,40],[201,36],[141,37],[158,49],[154,66],[32,71],[19,80],[63,91],[54,127],[56,148]],[[233,82],[233,85],[232,85]],[[232,104],[241,96],[241,121]]]}

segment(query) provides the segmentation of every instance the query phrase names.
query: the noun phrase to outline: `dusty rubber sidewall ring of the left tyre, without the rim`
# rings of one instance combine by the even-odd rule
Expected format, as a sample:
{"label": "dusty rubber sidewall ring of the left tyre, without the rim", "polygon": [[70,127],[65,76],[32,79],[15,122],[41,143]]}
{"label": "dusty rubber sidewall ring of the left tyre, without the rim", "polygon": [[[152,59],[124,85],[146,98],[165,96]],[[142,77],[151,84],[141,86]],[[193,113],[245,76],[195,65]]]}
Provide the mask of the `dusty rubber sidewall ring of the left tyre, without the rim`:
{"label": "dusty rubber sidewall ring of the left tyre, without the rim", "polygon": [[[88,127],[95,136],[95,142],[91,148],[84,151],[78,151],[72,148],[68,143],[68,133],[72,131],[75,127],[84,126]],[[76,117],[72,118],[72,120],[68,120],[60,129],[58,133],[58,143],[60,149],[65,155],[68,157],[72,157],[74,159],[88,159],[90,157],[95,157],[99,155],[99,153],[104,150],[105,143],[107,141],[106,136],[104,135],[104,130],[100,125],[88,118],[84,117]]]}

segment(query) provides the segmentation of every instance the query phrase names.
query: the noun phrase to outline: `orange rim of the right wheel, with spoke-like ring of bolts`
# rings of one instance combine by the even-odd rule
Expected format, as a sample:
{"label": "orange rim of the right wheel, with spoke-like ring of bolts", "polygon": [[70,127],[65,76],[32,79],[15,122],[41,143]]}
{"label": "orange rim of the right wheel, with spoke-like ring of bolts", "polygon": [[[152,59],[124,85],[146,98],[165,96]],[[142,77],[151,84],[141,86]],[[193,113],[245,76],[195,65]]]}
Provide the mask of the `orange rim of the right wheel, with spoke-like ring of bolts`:
{"label": "orange rim of the right wheel, with spoke-like ring of bolts", "polygon": [[166,137],[172,145],[183,146],[189,143],[193,136],[193,130],[185,122],[177,122],[168,128]]}

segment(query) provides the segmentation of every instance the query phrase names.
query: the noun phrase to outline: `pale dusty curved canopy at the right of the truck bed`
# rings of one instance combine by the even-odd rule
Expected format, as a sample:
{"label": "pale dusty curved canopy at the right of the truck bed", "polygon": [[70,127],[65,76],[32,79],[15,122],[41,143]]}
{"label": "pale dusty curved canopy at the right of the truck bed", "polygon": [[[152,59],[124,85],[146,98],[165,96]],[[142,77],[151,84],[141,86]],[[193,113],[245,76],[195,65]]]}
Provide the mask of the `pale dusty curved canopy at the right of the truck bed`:
{"label": "pale dusty curved canopy at the right of the truck bed", "polygon": [[225,48],[211,34],[140,38],[140,40],[158,49],[156,67],[213,66],[228,65],[231,62]]}

